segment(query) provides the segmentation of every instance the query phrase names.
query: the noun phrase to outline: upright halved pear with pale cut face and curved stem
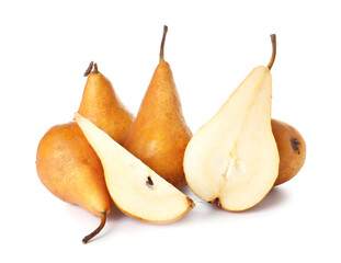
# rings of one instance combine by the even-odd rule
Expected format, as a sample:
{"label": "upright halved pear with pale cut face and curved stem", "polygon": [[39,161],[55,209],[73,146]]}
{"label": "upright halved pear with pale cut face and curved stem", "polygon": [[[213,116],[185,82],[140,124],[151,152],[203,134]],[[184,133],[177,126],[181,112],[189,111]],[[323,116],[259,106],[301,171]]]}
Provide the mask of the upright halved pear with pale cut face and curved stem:
{"label": "upright halved pear with pale cut face and curved stem", "polygon": [[184,172],[202,199],[227,210],[246,210],[273,187],[280,156],[271,127],[273,56],[253,69],[187,145]]}

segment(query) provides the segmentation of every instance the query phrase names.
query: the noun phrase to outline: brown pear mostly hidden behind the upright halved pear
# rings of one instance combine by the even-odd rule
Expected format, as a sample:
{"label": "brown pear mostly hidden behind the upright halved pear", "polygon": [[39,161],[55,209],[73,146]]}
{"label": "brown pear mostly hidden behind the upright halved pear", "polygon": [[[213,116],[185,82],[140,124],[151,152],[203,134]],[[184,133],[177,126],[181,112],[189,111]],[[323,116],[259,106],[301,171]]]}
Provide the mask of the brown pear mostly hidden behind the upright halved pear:
{"label": "brown pear mostly hidden behind the upright halved pear", "polygon": [[283,184],[294,178],[306,160],[306,142],[293,126],[271,119],[272,133],[280,152],[280,171],[275,185]]}

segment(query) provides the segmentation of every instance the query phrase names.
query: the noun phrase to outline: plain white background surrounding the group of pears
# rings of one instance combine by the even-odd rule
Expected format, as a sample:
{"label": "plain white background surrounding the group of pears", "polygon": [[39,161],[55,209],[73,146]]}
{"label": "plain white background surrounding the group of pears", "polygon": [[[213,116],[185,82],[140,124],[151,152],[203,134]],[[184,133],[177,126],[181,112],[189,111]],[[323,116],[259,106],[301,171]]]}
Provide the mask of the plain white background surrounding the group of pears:
{"label": "plain white background surrounding the group of pears", "polygon": [[[122,3],[124,2],[124,3]],[[340,262],[338,1],[1,1],[1,262]],[[35,153],[78,110],[90,60],[136,114],[158,64],[162,26],[193,132],[271,56],[273,117],[295,126],[307,160],[258,206],[229,213],[197,202],[183,219],[150,225],[116,208],[99,219],[53,196]],[[3,259],[7,259],[3,261]]]}

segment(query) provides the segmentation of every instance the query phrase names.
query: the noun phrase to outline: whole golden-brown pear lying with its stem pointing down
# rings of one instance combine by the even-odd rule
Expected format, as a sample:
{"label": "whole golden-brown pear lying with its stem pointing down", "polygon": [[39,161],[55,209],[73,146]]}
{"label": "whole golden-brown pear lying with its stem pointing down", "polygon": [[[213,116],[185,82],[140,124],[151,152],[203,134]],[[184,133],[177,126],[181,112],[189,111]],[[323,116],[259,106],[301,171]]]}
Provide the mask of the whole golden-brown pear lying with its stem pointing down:
{"label": "whole golden-brown pear lying with its stem pointing down", "polygon": [[55,196],[101,217],[99,228],[83,239],[84,243],[101,231],[112,201],[101,161],[76,122],[56,125],[44,135],[36,153],[36,170]]}

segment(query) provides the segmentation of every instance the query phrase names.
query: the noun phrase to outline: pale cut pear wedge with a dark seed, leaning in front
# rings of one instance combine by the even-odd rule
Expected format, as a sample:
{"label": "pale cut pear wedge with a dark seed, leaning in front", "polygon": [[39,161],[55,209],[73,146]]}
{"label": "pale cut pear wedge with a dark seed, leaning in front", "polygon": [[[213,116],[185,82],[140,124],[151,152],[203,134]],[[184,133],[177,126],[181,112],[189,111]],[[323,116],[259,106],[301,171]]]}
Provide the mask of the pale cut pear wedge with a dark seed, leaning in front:
{"label": "pale cut pear wedge with a dark seed, leaning in front", "polygon": [[78,113],[75,118],[98,153],[110,195],[122,211],[145,221],[169,222],[181,218],[194,207],[190,197],[102,129]]}

